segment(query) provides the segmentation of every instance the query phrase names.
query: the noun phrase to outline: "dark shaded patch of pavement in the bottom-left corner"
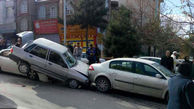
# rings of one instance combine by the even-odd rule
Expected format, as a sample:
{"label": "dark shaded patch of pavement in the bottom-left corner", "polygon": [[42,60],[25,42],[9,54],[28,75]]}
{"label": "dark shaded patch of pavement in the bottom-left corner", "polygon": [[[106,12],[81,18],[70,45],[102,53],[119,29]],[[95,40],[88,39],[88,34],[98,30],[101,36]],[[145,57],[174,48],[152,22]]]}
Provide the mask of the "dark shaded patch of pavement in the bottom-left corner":
{"label": "dark shaded patch of pavement in the bottom-left corner", "polygon": [[0,109],[17,109],[17,105],[7,97],[0,95]]}

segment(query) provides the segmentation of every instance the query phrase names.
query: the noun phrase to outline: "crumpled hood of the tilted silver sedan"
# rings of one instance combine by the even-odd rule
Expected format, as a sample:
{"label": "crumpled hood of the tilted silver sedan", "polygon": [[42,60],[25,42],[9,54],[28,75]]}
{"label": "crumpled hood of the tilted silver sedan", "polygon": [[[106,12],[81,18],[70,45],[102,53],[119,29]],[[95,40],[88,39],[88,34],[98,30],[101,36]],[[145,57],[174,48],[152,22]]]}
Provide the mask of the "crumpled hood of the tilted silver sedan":
{"label": "crumpled hood of the tilted silver sedan", "polygon": [[89,68],[89,66],[86,63],[81,62],[81,61],[77,61],[77,65],[72,67],[71,69],[76,70],[77,72],[79,72],[85,76],[88,76],[88,68]]}

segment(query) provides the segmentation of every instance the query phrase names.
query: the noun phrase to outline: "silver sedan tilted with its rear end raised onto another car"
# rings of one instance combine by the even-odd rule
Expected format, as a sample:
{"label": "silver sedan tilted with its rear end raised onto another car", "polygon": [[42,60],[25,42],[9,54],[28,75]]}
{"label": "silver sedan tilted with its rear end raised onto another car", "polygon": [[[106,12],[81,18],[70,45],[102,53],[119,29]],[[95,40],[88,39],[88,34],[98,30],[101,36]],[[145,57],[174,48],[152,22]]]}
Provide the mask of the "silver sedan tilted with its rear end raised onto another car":
{"label": "silver sedan tilted with its rear end raised onto another car", "polygon": [[44,38],[22,48],[14,46],[10,58],[22,73],[37,71],[66,82],[71,88],[88,83],[88,65],[77,61],[66,47]]}

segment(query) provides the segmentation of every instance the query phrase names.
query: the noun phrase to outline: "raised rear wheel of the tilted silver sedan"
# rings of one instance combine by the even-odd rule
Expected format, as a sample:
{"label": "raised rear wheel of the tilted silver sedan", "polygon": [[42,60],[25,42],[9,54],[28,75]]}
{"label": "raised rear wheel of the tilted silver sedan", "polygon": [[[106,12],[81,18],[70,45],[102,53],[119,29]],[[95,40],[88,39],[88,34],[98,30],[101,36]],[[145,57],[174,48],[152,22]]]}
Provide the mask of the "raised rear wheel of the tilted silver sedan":
{"label": "raised rear wheel of the tilted silver sedan", "polygon": [[23,74],[28,74],[30,72],[30,66],[26,62],[20,61],[18,64],[18,70]]}

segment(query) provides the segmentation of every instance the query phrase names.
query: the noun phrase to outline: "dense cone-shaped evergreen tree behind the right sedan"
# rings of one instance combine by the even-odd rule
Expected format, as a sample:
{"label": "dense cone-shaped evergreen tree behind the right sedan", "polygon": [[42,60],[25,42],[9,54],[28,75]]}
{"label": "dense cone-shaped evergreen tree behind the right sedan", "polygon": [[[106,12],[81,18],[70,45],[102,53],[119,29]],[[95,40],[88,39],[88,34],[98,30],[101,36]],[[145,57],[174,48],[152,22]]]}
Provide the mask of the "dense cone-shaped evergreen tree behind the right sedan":
{"label": "dense cone-shaped evergreen tree behind the right sedan", "polygon": [[105,55],[113,57],[132,57],[140,52],[139,38],[132,24],[132,12],[120,7],[112,13],[104,38]]}

